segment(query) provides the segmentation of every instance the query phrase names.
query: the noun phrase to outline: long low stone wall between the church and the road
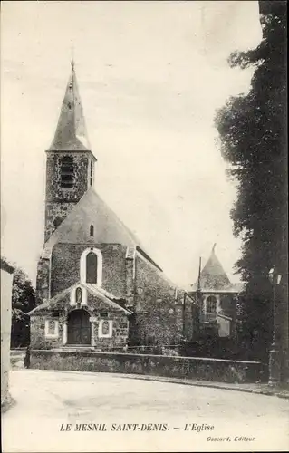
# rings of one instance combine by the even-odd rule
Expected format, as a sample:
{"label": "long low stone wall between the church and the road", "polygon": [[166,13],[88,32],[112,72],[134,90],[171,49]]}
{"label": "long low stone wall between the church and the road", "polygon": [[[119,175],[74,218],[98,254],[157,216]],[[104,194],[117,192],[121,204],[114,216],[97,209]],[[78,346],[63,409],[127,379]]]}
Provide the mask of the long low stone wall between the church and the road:
{"label": "long low stone wall between the church and the road", "polygon": [[116,352],[31,352],[31,368],[148,374],[192,380],[255,382],[261,363]]}

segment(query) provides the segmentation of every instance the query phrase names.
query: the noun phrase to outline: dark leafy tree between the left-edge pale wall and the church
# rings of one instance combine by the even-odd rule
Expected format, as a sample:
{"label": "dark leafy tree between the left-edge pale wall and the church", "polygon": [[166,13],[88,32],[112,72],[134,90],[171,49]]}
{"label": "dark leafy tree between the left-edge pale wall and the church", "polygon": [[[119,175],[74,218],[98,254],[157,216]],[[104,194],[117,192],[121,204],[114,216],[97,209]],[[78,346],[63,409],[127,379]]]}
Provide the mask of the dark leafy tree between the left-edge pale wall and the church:
{"label": "dark leafy tree between the left-edge pale wall and the church", "polygon": [[[9,265],[5,257],[2,257],[2,261]],[[35,292],[28,276],[19,267],[13,266],[11,347],[18,348],[30,342],[30,319],[27,313],[35,307]]]}

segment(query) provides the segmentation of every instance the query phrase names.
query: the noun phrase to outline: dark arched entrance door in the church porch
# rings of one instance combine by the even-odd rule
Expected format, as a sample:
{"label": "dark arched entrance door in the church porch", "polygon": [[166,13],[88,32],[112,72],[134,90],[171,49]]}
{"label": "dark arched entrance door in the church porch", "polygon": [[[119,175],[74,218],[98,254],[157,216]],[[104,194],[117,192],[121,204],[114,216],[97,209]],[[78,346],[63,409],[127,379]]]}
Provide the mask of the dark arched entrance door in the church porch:
{"label": "dark arched entrance door in the church porch", "polygon": [[90,315],[85,310],[73,310],[68,317],[69,344],[91,344]]}

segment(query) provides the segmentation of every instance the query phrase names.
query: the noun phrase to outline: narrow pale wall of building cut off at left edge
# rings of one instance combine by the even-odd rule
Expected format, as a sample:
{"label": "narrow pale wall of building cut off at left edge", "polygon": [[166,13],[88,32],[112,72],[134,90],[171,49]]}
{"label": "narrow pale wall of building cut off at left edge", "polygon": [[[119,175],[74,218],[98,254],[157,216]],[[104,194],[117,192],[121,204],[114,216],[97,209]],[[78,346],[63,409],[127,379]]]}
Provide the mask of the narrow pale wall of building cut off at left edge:
{"label": "narrow pale wall of building cut off at left edge", "polygon": [[1,262],[1,408],[10,400],[10,336],[11,336],[11,299],[13,271],[10,266],[3,267]]}

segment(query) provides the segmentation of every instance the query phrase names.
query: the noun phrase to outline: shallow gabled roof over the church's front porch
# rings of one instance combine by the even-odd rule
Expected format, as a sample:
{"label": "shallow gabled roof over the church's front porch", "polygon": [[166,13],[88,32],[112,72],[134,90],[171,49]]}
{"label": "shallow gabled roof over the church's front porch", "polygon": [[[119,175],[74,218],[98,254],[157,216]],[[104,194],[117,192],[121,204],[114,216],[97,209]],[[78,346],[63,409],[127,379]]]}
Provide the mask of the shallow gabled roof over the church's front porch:
{"label": "shallow gabled roof over the church's front porch", "polygon": [[37,305],[31,312],[27,313],[30,316],[35,313],[40,313],[40,312],[49,312],[53,310],[54,308],[57,307],[57,304],[63,299],[63,297],[66,294],[70,294],[71,291],[76,288],[81,286],[82,288],[85,288],[89,293],[92,295],[96,295],[99,297],[105,304],[109,304],[112,308],[116,308],[122,312],[125,312],[126,314],[131,314],[132,312],[128,310],[127,308],[124,308],[121,306],[118,302],[120,302],[120,299],[118,297],[115,297],[113,294],[109,293],[108,291],[104,290],[100,286],[97,286],[96,284],[82,284],[80,282],[77,282],[76,284],[72,284],[69,288],[64,289],[60,293],[54,295],[50,301],[45,301],[43,304]]}

